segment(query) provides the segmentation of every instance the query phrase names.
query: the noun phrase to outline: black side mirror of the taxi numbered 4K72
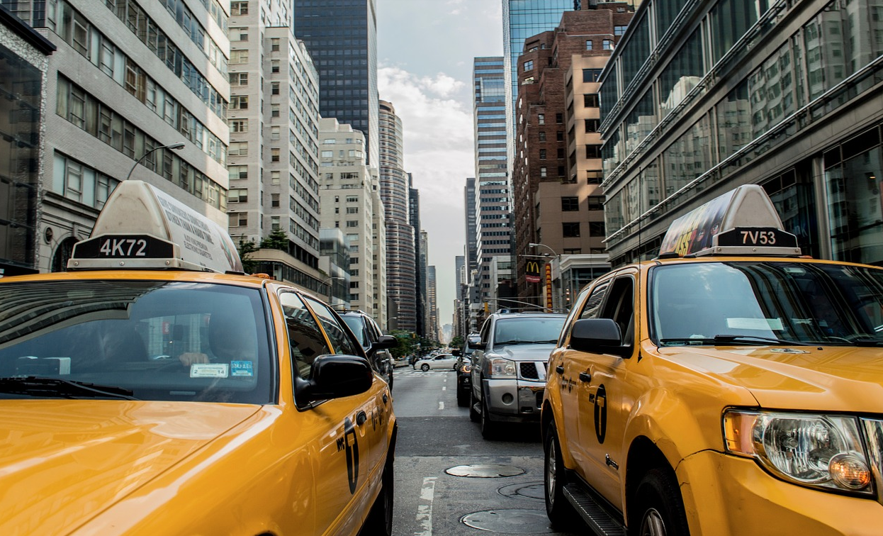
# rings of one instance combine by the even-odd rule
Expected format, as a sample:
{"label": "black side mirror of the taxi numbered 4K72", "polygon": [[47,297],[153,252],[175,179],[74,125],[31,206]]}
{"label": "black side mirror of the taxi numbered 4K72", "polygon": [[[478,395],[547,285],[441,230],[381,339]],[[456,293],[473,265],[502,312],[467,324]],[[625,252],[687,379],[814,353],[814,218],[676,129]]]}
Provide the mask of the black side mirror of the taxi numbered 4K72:
{"label": "black side mirror of the taxi numbered 4K72", "polygon": [[[395,337],[393,337],[395,338]],[[310,378],[294,380],[294,394],[299,404],[342,398],[371,389],[374,371],[367,359],[358,356],[326,354],[313,361]]]}

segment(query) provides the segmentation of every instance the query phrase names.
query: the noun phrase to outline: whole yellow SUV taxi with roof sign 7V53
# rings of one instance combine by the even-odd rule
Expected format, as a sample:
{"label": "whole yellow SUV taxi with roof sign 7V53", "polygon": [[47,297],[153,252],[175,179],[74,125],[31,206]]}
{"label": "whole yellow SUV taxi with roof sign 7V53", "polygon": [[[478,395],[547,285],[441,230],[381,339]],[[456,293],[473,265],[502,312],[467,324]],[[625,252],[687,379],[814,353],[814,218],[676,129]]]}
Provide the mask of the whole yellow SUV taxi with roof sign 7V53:
{"label": "whole yellow SUV taxi with roof sign 7V53", "polygon": [[883,530],[883,269],[800,253],[745,185],[579,294],[542,406],[554,524]]}

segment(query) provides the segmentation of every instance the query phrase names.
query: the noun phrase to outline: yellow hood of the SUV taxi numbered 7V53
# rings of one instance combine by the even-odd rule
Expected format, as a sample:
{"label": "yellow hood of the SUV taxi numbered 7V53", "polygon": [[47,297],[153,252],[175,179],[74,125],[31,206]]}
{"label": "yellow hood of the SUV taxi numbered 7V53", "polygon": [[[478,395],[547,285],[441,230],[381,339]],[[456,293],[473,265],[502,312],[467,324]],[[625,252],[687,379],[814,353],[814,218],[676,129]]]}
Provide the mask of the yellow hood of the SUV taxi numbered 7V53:
{"label": "yellow hood of the SUV taxi numbered 7V53", "polygon": [[749,389],[763,408],[883,412],[883,348],[671,346],[659,352]]}

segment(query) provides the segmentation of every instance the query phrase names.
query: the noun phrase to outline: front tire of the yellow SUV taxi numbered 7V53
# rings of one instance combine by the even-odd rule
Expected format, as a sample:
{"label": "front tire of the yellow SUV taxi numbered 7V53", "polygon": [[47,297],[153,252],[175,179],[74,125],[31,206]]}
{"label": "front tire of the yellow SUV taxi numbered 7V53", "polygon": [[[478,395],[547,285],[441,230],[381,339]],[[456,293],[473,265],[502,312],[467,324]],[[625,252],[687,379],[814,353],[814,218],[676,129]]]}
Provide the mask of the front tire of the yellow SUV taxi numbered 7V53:
{"label": "front tire of the yellow SUV taxi numbered 7V53", "polygon": [[643,536],[689,536],[687,515],[675,474],[651,469],[638,484],[629,525]]}

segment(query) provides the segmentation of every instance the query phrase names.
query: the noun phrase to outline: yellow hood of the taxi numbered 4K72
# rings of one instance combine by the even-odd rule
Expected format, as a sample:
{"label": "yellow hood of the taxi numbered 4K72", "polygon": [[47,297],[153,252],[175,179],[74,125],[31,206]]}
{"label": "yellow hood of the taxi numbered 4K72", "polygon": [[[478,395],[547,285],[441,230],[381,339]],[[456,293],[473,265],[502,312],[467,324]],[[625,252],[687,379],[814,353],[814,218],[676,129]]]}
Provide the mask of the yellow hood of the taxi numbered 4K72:
{"label": "yellow hood of the taxi numbered 4K72", "polygon": [[259,409],[0,400],[0,534],[72,532]]}

